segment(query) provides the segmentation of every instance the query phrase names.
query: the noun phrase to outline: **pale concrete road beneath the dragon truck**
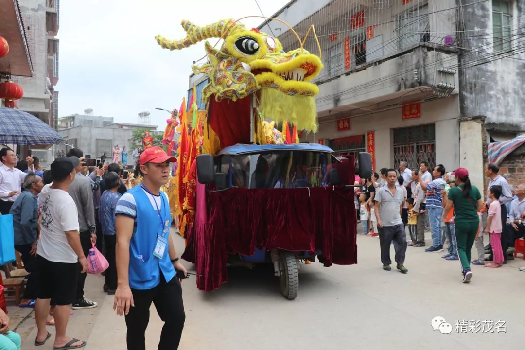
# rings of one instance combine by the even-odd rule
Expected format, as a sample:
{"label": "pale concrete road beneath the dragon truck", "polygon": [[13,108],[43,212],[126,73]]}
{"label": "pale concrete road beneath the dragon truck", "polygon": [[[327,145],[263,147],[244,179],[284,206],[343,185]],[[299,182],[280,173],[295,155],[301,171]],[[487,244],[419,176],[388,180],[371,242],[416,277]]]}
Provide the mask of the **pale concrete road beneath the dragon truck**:
{"label": "pale concrete road beneath the dragon truck", "polygon": [[[174,237],[177,251],[182,252],[184,241]],[[525,266],[525,261],[521,256],[502,269],[473,266],[472,283],[463,284],[459,262],[441,259],[443,253],[408,247],[405,266],[409,271],[401,274],[382,270],[379,239],[359,236],[358,246],[358,265],[303,265],[299,296],[293,301],[281,296],[271,269],[230,269],[228,283],[211,293],[198,291],[193,278],[186,280],[186,324],[180,348],[492,350],[523,346],[525,272],[518,267]],[[191,264],[186,266],[193,269]],[[87,296],[98,301],[99,307],[76,311],[69,335],[88,339],[87,349],[124,350],[125,324],[112,310],[113,297],[102,293],[101,277],[90,276],[88,281]],[[430,321],[436,316],[450,323],[451,334],[433,331]],[[487,322],[484,329],[458,333],[456,323],[463,320],[505,321],[506,332],[502,328],[498,332]],[[161,327],[152,306],[146,348],[156,348]],[[31,315],[18,331],[25,338],[24,350],[52,347],[52,342],[33,346],[36,330]]]}

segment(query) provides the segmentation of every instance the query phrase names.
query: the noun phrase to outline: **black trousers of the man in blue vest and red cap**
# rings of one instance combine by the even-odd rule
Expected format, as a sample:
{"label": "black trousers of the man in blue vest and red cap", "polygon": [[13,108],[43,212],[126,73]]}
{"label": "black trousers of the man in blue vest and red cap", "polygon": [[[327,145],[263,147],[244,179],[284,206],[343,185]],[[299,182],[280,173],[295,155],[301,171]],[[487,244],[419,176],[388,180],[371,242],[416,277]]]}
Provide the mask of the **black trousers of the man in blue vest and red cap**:
{"label": "black trousers of the man in blue vest and red cap", "polygon": [[166,282],[161,273],[161,283],[153,289],[131,289],[135,307],[125,315],[128,327],[128,350],[145,350],[144,332],[150,322],[150,306],[155,305],[164,322],[158,350],[175,350],[181,342],[186,314],[182,302],[182,288],[176,277]]}

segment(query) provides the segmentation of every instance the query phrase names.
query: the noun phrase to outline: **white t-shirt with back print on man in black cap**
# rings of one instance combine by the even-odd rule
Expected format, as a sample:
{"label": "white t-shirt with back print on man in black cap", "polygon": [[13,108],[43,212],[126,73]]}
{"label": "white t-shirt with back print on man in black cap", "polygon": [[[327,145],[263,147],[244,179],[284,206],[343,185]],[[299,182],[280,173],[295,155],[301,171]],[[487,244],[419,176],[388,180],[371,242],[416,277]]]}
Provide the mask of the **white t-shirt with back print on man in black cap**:
{"label": "white t-shirt with back print on man in black cap", "polygon": [[78,257],[67,241],[66,231],[79,230],[77,206],[66,191],[49,186],[44,186],[39,197],[37,254],[49,261],[76,263]]}

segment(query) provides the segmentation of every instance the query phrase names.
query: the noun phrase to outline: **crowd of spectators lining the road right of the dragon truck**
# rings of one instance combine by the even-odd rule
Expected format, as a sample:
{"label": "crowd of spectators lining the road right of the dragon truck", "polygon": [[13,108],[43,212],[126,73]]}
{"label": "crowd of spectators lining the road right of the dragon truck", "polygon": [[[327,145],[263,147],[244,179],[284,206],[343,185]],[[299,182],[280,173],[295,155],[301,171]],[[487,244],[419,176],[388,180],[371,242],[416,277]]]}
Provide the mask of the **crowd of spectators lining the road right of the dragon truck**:
{"label": "crowd of spectators lining the road right of the dragon truck", "polygon": [[[485,200],[465,168],[447,173],[442,164],[430,169],[422,162],[413,171],[401,162],[398,171],[383,168],[371,178],[356,177],[355,184],[362,185],[356,190],[358,220],[364,235],[379,238],[383,269],[392,269],[393,243],[396,268],[407,273],[406,249],[427,246],[426,228],[432,245],[425,251],[443,252],[446,245],[442,258],[460,261],[464,283],[472,279],[472,264],[501,268],[514,259],[514,242],[525,236],[525,185],[512,189],[496,164],[488,164],[485,175]],[[472,260],[474,245],[478,257]]]}

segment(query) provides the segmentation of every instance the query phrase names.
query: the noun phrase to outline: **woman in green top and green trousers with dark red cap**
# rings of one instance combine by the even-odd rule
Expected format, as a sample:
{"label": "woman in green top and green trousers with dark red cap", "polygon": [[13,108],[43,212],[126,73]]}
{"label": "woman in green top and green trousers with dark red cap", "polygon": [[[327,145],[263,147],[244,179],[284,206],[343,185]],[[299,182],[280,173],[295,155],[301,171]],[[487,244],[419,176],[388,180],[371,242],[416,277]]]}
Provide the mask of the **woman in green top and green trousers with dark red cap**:
{"label": "woman in green top and green trousers with dark red cap", "polygon": [[472,272],[470,272],[470,251],[474,245],[479,227],[478,211],[483,205],[481,194],[476,186],[470,184],[468,171],[465,168],[457,168],[452,173],[456,177],[456,187],[448,191],[448,203],[443,211],[445,218],[454,205],[456,226],[456,240],[461,270],[463,271],[463,283],[470,283]]}

